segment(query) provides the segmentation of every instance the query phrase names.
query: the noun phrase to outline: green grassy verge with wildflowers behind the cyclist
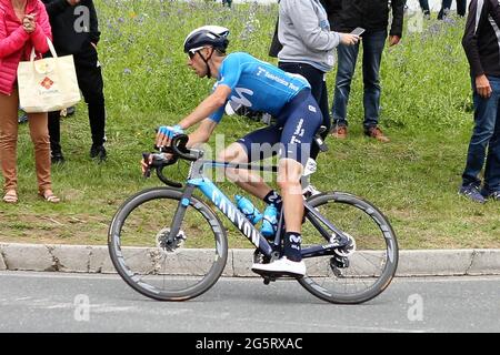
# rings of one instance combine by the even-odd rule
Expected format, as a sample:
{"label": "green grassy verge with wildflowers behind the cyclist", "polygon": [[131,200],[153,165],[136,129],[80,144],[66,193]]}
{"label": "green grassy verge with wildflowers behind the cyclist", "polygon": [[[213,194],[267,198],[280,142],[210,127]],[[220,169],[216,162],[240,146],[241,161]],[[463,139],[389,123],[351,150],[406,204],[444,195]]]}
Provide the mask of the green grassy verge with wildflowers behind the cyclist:
{"label": "green grassy verge with wildflowers behind the cyclist", "polygon": [[[54,166],[54,191],[63,203],[37,196],[32,145],[26,125],[19,139],[18,205],[0,204],[0,242],[103,244],[111,217],[130,194],[158,185],[140,175],[141,152],[153,128],[173,124],[209,92],[213,81],[186,65],[184,36],[217,23],[231,29],[231,51],[267,57],[277,8],[213,2],[97,1],[100,60],[107,98],[109,159],[89,159],[90,130],[83,103],[61,124],[67,163]],[[381,124],[391,143],[362,135],[362,78],[358,65],[350,105],[349,139],[328,140],[312,182],[373,202],[390,219],[402,248],[500,247],[499,203],[477,205],[457,195],[472,129],[469,68],[460,44],[463,20],[430,21],[406,32],[383,53]],[[334,71],[328,74],[330,98]],[[259,125],[226,118],[217,133],[230,143]],[[214,139],[211,141],[214,146]],[[171,168],[183,180],[188,166]],[[223,183],[229,195],[234,186]],[[230,246],[250,244],[230,229]]]}

